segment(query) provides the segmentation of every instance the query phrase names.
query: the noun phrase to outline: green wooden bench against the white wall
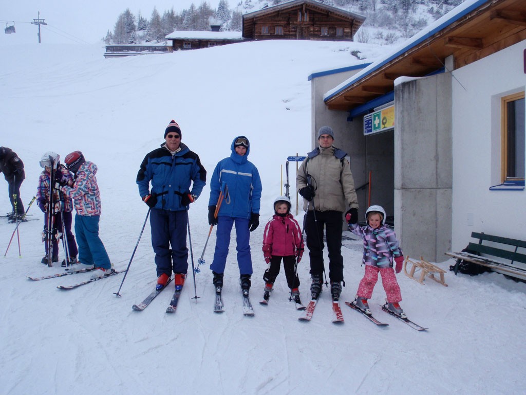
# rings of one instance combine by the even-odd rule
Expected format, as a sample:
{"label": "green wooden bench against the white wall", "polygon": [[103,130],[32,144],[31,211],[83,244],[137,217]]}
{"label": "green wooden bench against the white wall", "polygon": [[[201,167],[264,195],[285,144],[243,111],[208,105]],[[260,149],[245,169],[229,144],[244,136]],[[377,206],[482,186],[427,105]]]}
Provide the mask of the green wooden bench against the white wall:
{"label": "green wooden bench against the white wall", "polygon": [[470,252],[446,252],[446,255],[457,259],[457,263],[453,266],[455,274],[457,274],[460,262],[464,260],[526,280],[526,254],[524,253],[526,252],[526,241],[478,232],[472,232],[471,237],[478,239],[478,242],[468,244],[466,250]]}

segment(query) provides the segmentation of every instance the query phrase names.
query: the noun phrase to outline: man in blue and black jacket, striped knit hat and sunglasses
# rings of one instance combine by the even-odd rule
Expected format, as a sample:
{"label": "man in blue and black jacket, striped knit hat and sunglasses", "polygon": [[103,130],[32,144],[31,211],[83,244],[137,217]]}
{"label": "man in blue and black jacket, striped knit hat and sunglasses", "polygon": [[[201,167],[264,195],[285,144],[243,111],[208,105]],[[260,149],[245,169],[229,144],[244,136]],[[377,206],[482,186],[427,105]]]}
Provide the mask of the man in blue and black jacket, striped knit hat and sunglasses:
{"label": "man in blue and black jacket, striped knit hat and sunglasses", "polygon": [[179,125],[172,120],[165,130],[165,143],[146,155],[137,174],[140,197],[151,209],[158,290],[166,286],[172,271],[175,286],[184,284],[188,270],[187,210],[206,185],[205,167],[199,156],[181,143],[181,137]]}

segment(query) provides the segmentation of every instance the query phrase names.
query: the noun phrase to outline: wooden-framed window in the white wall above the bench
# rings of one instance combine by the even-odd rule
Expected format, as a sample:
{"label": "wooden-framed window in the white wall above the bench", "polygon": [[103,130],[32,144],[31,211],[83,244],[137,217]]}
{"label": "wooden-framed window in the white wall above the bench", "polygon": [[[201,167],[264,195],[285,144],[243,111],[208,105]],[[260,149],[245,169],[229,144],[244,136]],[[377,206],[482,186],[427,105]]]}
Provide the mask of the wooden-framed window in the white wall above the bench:
{"label": "wooden-framed window in the white wall above the bench", "polygon": [[502,97],[501,179],[524,185],[524,92]]}

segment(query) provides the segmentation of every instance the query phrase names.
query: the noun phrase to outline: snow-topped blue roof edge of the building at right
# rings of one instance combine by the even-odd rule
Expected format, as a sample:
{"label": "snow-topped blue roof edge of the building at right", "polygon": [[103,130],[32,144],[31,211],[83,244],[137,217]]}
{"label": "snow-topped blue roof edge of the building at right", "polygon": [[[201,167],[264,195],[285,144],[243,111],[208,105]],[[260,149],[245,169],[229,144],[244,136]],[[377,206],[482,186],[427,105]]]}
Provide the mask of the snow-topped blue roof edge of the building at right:
{"label": "snow-topped blue roof edge of the building at right", "polygon": [[432,24],[422,29],[419,33],[409,38],[406,42],[402,43],[399,47],[396,47],[391,53],[386,57],[381,58],[380,60],[372,63],[370,66],[364,68],[361,72],[353,75],[348,80],[343,81],[338,86],[332,88],[330,91],[326,92],[323,95],[323,101],[329,100],[331,97],[341,93],[350,85],[360,81],[363,77],[371,74],[372,72],[378,70],[380,67],[391,62],[393,59],[399,57],[403,53],[408,52],[411,48],[416,47],[420,43],[426,41],[429,37],[433,36],[437,32],[451,25],[452,23],[458,21],[463,16],[469,14],[474,9],[480,7],[481,5],[490,2],[491,0],[466,0],[464,3],[460,4],[458,7],[453,8],[449,13],[442,16],[441,18],[434,21]]}

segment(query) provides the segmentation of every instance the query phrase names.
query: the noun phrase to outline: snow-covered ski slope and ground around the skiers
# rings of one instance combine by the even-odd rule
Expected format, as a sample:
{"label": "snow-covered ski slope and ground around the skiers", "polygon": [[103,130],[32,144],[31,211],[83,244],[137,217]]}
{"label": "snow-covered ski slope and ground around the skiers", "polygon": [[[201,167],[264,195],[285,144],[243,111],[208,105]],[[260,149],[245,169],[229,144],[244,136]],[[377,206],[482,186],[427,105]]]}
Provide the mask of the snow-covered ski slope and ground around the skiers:
{"label": "snow-covered ski slope and ground around the skiers", "polygon": [[[385,49],[385,48],[384,48]],[[31,282],[27,275],[61,271],[40,262],[43,214],[19,228],[0,263],[0,393],[3,394],[385,394],[519,393],[526,380],[521,347],[526,287],[498,274],[477,277],[448,272],[449,287],[421,285],[398,275],[402,306],[417,332],[380,311],[377,284],[371,307],[388,322],[377,328],[342,305],[345,324],[330,322],[324,292],[310,323],[288,301],[281,273],[270,304],[261,307],[261,239],[281,193],[280,165],[310,150],[310,83],[321,68],[370,60],[382,48],[358,43],[253,42],[166,55],[105,60],[99,46],[0,46],[0,145],[22,157],[22,197],[36,192],[38,160],[49,150],[62,158],[82,150],[99,167],[103,202],[100,236],[117,270],[125,270],[145,220],[135,177],[144,155],[162,141],[174,118],[183,142],[206,169],[229,154],[231,139],[251,141],[249,160],[264,186],[261,225],[251,234],[254,318],[241,314],[235,243],[225,274],[225,313],[213,313],[212,233],[206,264],[191,273],[174,315],[165,313],[166,290],[143,312],[131,310],[155,283],[149,225],[120,291],[123,275],[59,291],[88,274]],[[7,61],[8,60],[8,61]],[[321,100],[321,98],[320,98]],[[337,144],[337,142],[336,142]],[[295,169],[291,169],[294,189]],[[7,183],[0,181],[0,210],[8,211]],[[193,256],[208,234],[208,187],[189,218]],[[295,205],[295,204],[294,204]],[[295,209],[295,207],[294,207]],[[295,211],[295,210],[294,210]],[[299,215],[301,222],[301,214]],[[0,219],[5,252],[14,225]],[[402,244],[403,248],[403,244]],[[363,275],[361,242],[344,241],[346,287],[351,300]],[[62,252],[61,252],[62,258]],[[447,268],[452,261],[438,263]],[[308,256],[300,263],[300,291],[308,301]],[[170,287],[171,288],[171,287]],[[199,299],[193,299],[197,293]]]}

